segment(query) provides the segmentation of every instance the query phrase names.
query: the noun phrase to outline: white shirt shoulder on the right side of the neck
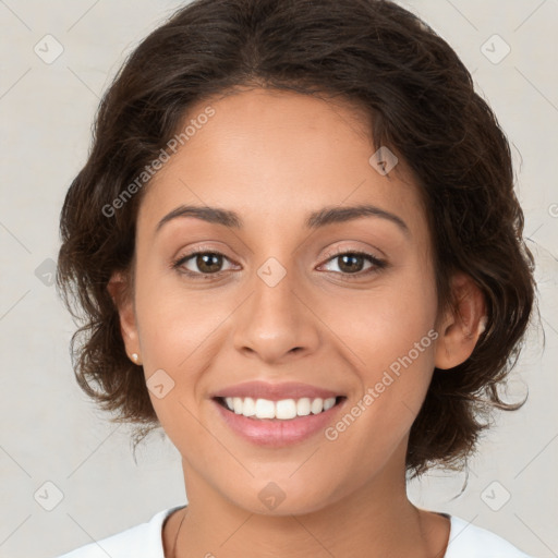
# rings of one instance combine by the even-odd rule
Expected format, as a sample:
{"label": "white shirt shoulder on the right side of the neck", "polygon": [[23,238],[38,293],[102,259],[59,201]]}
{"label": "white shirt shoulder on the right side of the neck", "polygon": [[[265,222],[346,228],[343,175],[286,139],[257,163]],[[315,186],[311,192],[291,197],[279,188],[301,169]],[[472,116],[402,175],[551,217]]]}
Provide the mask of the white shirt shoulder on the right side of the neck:
{"label": "white shirt shoulder on the right side of the neck", "polygon": [[451,530],[444,558],[531,558],[501,536],[450,515]]}

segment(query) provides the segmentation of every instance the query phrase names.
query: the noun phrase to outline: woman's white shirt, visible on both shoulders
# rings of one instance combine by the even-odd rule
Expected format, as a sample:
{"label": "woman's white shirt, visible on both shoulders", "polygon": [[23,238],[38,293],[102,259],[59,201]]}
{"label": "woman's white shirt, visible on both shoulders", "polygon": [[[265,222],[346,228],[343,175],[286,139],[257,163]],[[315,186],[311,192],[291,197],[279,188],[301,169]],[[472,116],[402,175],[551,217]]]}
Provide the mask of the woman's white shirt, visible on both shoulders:
{"label": "woman's white shirt, visible on both shoulders", "polygon": [[[165,558],[162,523],[177,506],[156,513],[116,535],[89,543],[58,558]],[[451,522],[448,548],[444,558],[531,558],[492,531],[477,527],[464,519],[444,513]]]}

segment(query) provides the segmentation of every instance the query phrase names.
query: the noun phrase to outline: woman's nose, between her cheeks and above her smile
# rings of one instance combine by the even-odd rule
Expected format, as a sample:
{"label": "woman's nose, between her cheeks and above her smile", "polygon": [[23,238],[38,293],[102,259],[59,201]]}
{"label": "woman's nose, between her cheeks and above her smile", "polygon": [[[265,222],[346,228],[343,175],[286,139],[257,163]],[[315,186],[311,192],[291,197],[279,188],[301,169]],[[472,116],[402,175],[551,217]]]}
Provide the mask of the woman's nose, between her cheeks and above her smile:
{"label": "woman's nose, between her cheeks and above her smile", "polygon": [[256,275],[252,293],[235,313],[234,348],[267,364],[316,351],[320,342],[319,311],[312,308],[294,272],[287,272],[276,284],[262,277]]}

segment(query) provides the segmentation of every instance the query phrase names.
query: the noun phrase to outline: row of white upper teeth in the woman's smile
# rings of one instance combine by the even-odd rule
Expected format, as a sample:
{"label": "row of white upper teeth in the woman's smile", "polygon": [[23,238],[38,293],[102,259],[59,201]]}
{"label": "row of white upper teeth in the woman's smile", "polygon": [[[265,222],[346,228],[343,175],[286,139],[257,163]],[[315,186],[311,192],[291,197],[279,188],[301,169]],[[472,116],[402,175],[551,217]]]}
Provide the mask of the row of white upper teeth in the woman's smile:
{"label": "row of white upper teeth in the woman's smile", "polygon": [[244,416],[254,416],[255,418],[279,418],[289,421],[295,416],[307,416],[308,414],[318,414],[328,411],[336,404],[336,398],[328,399],[281,399],[280,401],[270,401],[269,399],[257,399],[246,397],[227,397],[225,402],[230,411]]}

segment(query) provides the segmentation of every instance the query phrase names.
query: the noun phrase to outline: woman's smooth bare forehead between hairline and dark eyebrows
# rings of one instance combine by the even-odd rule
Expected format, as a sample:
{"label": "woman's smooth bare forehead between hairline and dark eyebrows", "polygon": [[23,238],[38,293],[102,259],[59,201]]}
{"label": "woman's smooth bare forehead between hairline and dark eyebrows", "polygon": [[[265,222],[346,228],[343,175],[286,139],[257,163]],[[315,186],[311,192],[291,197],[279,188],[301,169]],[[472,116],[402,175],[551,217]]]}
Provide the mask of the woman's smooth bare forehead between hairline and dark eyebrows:
{"label": "woman's smooth bare forehead between hairline and dark eyebrows", "polygon": [[359,204],[398,214],[410,229],[425,227],[404,161],[388,175],[371,165],[371,120],[355,105],[250,89],[190,107],[179,133],[186,126],[183,145],[147,186],[143,228],[192,204],[233,209],[254,230],[296,226],[296,218],[303,226],[325,206]]}

